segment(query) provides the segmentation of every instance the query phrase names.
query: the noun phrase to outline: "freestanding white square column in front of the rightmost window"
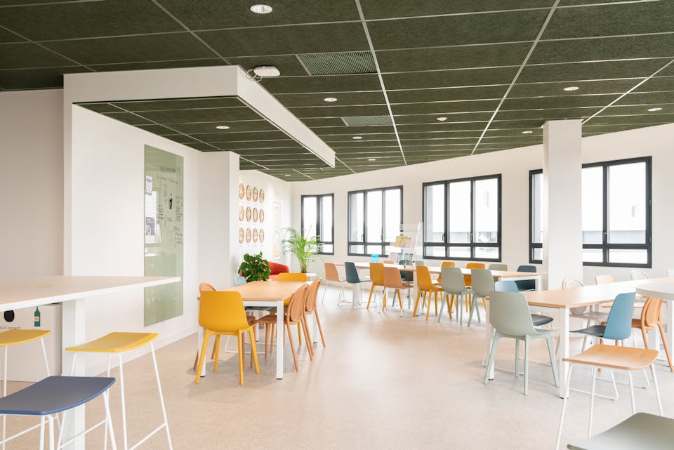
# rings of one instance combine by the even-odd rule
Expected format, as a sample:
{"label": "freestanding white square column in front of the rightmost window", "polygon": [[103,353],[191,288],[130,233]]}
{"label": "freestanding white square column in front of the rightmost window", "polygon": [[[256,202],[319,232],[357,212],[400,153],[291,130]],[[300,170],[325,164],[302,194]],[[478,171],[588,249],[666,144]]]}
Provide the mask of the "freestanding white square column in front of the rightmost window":
{"label": "freestanding white square column in front of the rightmost window", "polygon": [[543,125],[543,283],[583,279],[581,222],[581,121]]}

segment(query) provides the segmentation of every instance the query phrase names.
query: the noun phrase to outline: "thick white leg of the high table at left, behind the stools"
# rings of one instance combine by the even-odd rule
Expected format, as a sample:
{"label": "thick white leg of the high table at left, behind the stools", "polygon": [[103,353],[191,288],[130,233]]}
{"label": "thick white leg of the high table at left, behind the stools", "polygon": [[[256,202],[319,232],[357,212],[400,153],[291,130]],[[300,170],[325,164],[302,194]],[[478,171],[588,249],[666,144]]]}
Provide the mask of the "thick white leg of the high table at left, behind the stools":
{"label": "thick white leg of the high table at left, behind the stools", "polygon": [[[79,298],[69,302],[62,303],[61,309],[61,336],[62,347],[67,348],[73,345],[78,345],[86,341],[86,314],[85,314],[85,299]],[[63,352],[63,359],[61,364],[62,374],[70,375],[70,368],[72,367],[73,352]],[[84,376],[84,357],[80,355],[76,359],[74,375]],[[85,430],[84,407],[76,408],[70,411],[68,420],[65,421],[65,428],[63,430],[64,437],[70,438],[78,435]],[[64,447],[67,450],[84,450],[84,436],[74,440],[71,444]]]}

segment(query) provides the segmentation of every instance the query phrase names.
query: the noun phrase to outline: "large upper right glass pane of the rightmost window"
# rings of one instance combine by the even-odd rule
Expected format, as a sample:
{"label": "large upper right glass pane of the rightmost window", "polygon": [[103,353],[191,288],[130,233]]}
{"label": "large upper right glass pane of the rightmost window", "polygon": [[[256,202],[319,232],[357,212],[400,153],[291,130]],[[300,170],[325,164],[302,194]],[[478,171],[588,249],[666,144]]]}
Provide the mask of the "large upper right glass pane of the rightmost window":
{"label": "large upper right glass pane of the rightmost window", "polygon": [[612,244],[646,244],[646,163],[609,166],[608,231]]}

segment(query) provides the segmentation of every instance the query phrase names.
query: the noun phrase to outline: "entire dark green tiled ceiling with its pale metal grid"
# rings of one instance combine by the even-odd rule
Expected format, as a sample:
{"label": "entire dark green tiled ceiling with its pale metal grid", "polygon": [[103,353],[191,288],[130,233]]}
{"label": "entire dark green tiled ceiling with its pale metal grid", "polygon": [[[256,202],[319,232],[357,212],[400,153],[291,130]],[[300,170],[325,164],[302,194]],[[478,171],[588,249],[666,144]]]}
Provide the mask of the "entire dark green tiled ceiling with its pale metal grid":
{"label": "entire dark green tiled ceiling with its pale metal grid", "polygon": [[[538,144],[548,119],[583,119],[583,135],[674,121],[674,1],[267,1],[266,15],[252,3],[0,0],[0,88],[58,88],[72,72],[275,65],[282,76],[261,84],[335,150],[335,168],[304,161],[244,106],[213,106],[223,99],[99,112],[199,150],[246,152],[244,168],[295,158],[293,171],[260,168],[289,180]],[[218,140],[204,145],[208,134]]]}

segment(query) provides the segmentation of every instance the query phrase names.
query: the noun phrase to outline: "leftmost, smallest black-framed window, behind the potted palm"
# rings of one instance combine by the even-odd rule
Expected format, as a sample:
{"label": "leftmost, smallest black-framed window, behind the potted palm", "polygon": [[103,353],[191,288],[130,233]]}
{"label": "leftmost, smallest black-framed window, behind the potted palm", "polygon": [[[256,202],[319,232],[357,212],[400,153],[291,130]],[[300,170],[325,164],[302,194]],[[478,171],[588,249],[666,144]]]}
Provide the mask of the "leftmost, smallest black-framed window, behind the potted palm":
{"label": "leftmost, smallest black-framed window, behind the potted palm", "polygon": [[302,196],[302,230],[319,237],[322,246],[318,253],[324,255],[335,253],[334,212],[334,194]]}

